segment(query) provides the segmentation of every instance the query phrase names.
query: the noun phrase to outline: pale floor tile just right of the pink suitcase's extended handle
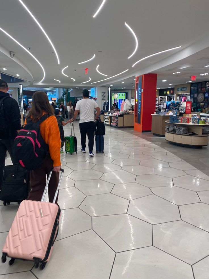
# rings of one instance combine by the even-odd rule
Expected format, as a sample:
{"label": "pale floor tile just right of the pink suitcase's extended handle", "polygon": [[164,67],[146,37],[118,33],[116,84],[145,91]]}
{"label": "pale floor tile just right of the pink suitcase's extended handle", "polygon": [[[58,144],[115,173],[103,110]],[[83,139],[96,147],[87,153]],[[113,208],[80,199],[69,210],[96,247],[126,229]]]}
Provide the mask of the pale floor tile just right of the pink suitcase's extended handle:
{"label": "pale floor tile just right of the pink suitcase's extended handle", "polygon": [[[58,204],[60,206],[60,209],[78,207],[84,199],[85,195],[75,187],[59,190]],[[45,196],[44,201],[49,201],[47,195]]]}

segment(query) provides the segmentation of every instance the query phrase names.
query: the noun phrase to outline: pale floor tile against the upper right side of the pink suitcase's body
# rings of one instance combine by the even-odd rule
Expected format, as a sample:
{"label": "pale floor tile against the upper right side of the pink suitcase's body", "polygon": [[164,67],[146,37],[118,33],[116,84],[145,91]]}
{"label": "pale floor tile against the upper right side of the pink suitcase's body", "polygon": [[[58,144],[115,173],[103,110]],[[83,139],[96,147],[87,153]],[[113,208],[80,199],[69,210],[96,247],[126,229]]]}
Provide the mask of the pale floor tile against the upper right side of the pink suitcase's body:
{"label": "pale floor tile against the upper right side of the pink suitcase's body", "polygon": [[90,229],[91,217],[79,208],[61,210],[59,232],[56,241]]}

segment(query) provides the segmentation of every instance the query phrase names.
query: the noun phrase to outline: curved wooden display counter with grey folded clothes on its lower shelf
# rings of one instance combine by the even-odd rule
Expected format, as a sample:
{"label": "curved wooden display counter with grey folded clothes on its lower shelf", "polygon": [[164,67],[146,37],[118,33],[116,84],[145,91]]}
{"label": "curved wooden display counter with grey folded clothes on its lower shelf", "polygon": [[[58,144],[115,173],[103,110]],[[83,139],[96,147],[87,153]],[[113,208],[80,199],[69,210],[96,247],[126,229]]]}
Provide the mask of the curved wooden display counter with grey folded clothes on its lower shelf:
{"label": "curved wooden display counter with grey folded clothes on its lower shelf", "polygon": [[172,144],[181,145],[185,147],[201,148],[202,146],[208,145],[208,134],[202,134],[203,127],[209,127],[209,125],[200,125],[200,124],[187,124],[187,123],[170,123],[169,121],[165,122],[168,124],[176,124],[176,126],[187,127],[189,133],[197,133],[198,135],[185,135],[177,134],[172,132],[165,132],[166,140]]}

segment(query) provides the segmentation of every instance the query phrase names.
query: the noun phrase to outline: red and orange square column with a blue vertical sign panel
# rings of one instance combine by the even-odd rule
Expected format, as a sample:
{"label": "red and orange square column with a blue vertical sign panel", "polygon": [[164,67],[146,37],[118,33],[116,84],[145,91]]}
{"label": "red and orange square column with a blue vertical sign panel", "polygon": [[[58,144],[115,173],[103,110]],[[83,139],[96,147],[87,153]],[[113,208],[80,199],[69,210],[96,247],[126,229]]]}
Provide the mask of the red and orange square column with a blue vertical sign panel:
{"label": "red and orange square column with a blue vertical sign panel", "polygon": [[135,131],[151,132],[151,114],[155,112],[156,85],[157,74],[146,74],[135,79]]}

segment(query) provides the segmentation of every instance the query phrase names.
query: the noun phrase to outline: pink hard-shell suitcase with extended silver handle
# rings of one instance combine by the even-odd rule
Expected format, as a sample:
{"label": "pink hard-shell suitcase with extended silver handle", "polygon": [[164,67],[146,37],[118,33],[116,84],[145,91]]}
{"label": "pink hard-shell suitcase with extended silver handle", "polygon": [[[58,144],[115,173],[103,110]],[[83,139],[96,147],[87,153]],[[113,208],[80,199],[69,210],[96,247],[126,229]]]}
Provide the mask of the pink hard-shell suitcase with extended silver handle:
{"label": "pink hard-shell suitcase with extended silver handle", "polygon": [[60,169],[60,171],[62,173],[53,203],[43,202],[52,171],[41,201],[24,200],[20,203],[2,249],[3,263],[8,256],[11,257],[9,265],[12,265],[15,259],[23,259],[34,261],[35,268],[41,264],[40,268],[43,269],[49,261],[58,234],[61,212],[59,206],[55,204],[64,170]]}

